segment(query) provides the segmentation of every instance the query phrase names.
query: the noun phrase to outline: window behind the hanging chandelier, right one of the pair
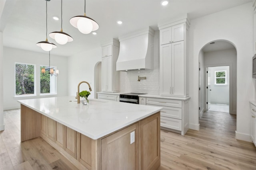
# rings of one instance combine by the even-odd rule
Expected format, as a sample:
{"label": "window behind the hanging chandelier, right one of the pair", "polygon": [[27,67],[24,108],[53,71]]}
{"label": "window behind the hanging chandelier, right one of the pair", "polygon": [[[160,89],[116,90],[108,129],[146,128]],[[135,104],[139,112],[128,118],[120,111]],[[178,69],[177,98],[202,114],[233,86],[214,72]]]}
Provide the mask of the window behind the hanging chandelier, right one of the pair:
{"label": "window behind the hanging chandelier, right one of the pair", "polygon": [[[41,72],[42,68],[45,69],[45,73]],[[40,94],[55,94],[56,92],[56,76],[49,74],[50,68],[54,66],[40,66]]]}

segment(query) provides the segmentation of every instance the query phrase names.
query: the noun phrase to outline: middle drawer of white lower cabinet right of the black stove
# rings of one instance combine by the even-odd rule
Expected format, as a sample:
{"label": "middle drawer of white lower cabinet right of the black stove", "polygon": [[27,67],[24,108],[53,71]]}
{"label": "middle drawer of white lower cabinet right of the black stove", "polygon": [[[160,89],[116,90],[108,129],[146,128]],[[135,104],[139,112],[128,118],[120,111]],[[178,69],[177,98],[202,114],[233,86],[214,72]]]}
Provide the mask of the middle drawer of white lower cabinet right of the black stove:
{"label": "middle drawer of white lower cabinet right of the black stove", "polygon": [[[148,106],[155,106],[151,104],[147,104]],[[163,109],[160,111],[161,116],[170,117],[174,119],[182,119],[182,108],[178,107],[167,107],[167,106],[160,106]]]}

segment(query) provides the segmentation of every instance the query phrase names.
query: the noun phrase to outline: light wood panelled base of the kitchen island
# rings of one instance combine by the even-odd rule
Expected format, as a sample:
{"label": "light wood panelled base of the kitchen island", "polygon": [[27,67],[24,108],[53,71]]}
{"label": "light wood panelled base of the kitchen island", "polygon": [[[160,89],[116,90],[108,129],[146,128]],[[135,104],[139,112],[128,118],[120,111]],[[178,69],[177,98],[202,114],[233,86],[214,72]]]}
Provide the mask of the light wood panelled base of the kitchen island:
{"label": "light wood panelled base of the kitchen island", "polygon": [[[21,104],[21,141],[42,137],[78,169],[156,170],[160,166],[160,112],[93,140]],[[135,142],[130,144],[130,133]]]}

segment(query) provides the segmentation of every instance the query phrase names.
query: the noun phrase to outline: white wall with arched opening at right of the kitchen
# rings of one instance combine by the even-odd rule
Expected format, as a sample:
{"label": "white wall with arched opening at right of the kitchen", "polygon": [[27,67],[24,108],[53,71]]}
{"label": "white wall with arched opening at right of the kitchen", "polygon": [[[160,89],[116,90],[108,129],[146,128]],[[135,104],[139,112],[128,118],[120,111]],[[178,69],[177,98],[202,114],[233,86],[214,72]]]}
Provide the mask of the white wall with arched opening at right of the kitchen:
{"label": "white wall with arched opening at right of the kitchen", "polygon": [[249,100],[254,99],[252,80],[253,12],[252,2],[191,20],[190,51],[190,128],[199,129],[198,56],[207,43],[222,39],[237,50],[236,138],[250,141]]}

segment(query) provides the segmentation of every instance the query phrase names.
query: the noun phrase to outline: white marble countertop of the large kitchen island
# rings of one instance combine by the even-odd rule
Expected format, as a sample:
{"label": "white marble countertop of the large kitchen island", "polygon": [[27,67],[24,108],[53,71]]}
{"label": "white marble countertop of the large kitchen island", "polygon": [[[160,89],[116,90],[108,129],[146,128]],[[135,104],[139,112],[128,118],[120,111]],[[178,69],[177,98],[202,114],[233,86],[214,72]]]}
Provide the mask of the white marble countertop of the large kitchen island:
{"label": "white marble countertop of the large kitchen island", "polygon": [[98,99],[90,99],[88,105],[83,105],[82,100],[77,104],[75,96],[18,102],[92,139],[99,139],[162,109]]}

